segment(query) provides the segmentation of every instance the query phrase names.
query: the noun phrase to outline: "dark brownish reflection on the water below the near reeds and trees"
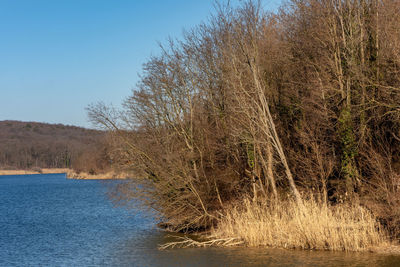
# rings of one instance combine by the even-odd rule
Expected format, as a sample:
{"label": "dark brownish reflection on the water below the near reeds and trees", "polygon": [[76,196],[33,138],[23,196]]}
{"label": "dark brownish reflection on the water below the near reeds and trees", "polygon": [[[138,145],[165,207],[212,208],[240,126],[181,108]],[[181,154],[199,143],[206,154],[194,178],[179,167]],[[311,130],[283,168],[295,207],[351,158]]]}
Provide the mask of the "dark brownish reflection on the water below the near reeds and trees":
{"label": "dark brownish reflection on the water below the near reeds and trees", "polygon": [[116,266],[400,266],[399,256],[372,253],[266,248],[184,248],[159,251],[168,234],[151,231],[126,239],[115,253]]}

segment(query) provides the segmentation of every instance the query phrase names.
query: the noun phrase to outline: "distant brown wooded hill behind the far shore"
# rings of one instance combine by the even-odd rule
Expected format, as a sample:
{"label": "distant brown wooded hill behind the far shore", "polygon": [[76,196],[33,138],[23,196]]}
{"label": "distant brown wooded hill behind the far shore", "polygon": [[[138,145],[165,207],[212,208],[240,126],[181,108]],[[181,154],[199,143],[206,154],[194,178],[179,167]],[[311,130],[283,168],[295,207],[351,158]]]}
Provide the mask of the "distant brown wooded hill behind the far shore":
{"label": "distant brown wooded hill behind the far shore", "polygon": [[101,145],[104,138],[102,131],[76,126],[0,121],[0,169],[75,168],[95,172],[107,164]]}

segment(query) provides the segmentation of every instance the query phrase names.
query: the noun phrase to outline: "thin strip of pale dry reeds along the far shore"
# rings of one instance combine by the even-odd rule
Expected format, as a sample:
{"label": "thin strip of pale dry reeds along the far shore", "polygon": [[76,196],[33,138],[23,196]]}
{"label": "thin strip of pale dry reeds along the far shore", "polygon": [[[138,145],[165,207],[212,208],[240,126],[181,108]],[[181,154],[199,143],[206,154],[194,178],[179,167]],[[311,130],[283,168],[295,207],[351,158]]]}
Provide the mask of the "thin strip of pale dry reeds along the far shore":
{"label": "thin strip of pale dry reeds along the far shore", "polygon": [[32,170],[0,170],[0,176],[4,175],[29,175],[29,174],[61,174],[65,173],[68,179],[77,180],[108,180],[108,179],[127,179],[127,173],[116,173],[113,171],[99,174],[89,174],[86,172],[77,173],[68,168],[43,168]]}

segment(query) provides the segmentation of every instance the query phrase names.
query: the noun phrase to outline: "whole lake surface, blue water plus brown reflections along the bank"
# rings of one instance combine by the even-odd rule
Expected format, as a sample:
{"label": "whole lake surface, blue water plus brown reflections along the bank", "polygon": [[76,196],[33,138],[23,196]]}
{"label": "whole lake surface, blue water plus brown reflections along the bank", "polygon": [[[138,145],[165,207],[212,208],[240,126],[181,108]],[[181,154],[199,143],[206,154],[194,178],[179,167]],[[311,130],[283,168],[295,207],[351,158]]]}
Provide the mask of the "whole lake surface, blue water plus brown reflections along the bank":
{"label": "whole lake surface, blue water plus brown reflections along the bank", "polygon": [[[118,181],[115,181],[118,182]],[[0,266],[400,266],[400,256],[266,248],[160,251],[149,214],[64,174],[0,176]]]}

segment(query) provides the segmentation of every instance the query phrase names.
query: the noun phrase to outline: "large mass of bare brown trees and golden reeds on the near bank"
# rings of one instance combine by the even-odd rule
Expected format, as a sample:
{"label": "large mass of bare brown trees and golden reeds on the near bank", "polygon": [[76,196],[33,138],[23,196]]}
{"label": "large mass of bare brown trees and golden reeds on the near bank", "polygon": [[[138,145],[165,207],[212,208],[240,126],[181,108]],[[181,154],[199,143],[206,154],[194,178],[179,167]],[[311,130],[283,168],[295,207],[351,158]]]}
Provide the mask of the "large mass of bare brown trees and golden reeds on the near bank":
{"label": "large mass of bare brown trees and golden reeds on the near bank", "polygon": [[397,0],[220,4],[150,58],[124,110],[88,108],[136,174],[114,201],[251,246],[397,240],[399,14]]}

